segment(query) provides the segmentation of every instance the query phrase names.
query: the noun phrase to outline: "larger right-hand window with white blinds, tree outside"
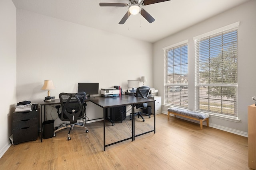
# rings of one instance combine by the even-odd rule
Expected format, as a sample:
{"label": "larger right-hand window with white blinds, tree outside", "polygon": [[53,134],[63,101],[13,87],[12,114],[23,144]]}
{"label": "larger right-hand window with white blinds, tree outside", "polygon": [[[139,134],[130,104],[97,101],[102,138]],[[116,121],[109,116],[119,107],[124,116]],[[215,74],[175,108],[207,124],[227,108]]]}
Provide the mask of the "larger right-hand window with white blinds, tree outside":
{"label": "larger right-hand window with white blinds, tree outside", "polygon": [[197,111],[238,118],[237,26],[195,39]]}

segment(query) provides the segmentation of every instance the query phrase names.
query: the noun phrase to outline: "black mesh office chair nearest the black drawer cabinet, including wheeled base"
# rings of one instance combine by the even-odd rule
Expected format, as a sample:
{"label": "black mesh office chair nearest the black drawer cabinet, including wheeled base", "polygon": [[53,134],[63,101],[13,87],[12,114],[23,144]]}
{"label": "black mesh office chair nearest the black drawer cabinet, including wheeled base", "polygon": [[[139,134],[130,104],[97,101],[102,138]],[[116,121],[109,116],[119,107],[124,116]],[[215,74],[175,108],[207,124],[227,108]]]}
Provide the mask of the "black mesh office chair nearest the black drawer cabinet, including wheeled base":
{"label": "black mesh office chair nearest the black drawer cabinet, including wheeled base", "polygon": [[78,93],[60,93],[60,104],[61,104],[61,113],[60,106],[56,106],[58,116],[62,121],[69,121],[70,124],[65,125],[64,127],[60,127],[59,129],[54,131],[54,136],[56,136],[56,132],[66,129],[70,127],[68,131],[68,141],[71,140],[70,131],[74,127],[83,127],[86,129],[86,133],[88,133],[88,128],[84,126],[84,123],[77,123],[78,119],[84,119],[84,111],[86,109],[86,104],[84,104],[84,100],[86,97],[85,92]]}

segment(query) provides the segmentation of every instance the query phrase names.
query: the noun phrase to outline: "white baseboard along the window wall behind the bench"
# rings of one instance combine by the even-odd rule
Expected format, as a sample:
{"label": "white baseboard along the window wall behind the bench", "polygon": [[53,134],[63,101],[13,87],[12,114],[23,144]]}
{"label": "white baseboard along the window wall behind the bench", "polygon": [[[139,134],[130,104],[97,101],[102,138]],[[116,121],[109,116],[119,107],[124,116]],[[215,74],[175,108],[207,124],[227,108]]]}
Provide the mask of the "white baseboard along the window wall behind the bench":
{"label": "white baseboard along the window wall behind the bench", "polygon": [[[164,112],[164,111],[162,111],[162,112],[163,112],[164,114],[168,115],[167,112]],[[179,117],[179,118],[200,124],[200,123],[199,123],[198,121],[196,121],[196,120],[187,119],[187,118],[185,118],[185,117]],[[206,122],[204,121],[203,124],[206,125]],[[224,126],[216,125],[216,124],[213,124],[213,123],[209,123],[209,127],[212,127],[212,128],[215,128],[215,129],[220,129],[220,130],[222,130],[222,131],[226,131],[226,132],[230,132],[230,133],[234,133],[234,134],[236,134],[236,135],[248,137],[248,133],[243,132],[243,131],[238,131],[238,130],[236,130],[236,129],[231,129],[231,128],[229,128],[229,127],[224,127]]]}

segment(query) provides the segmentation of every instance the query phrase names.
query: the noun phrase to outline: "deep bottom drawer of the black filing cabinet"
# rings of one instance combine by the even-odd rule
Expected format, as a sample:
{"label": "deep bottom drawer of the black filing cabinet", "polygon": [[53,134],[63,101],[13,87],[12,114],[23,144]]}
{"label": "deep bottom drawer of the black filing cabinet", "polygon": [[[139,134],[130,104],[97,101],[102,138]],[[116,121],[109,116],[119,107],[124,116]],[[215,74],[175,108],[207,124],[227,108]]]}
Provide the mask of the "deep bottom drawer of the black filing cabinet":
{"label": "deep bottom drawer of the black filing cabinet", "polygon": [[14,129],[13,133],[13,143],[21,143],[25,141],[32,141],[37,139],[37,126],[31,126],[24,129]]}

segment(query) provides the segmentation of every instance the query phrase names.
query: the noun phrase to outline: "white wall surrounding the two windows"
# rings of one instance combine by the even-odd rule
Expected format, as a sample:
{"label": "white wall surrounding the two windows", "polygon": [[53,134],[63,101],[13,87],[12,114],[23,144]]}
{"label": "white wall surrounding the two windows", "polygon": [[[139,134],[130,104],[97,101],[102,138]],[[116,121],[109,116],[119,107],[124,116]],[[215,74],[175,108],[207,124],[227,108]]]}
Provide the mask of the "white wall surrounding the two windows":
{"label": "white wall surrounding the two windows", "polygon": [[[189,15],[189,14],[188,14]],[[251,0],[236,8],[184,29],[153,44],[153,77],[154,87],[159,96],[163,96],[164,87],[164,53],[162,48],[188,39],[188,84],[189,109],[194,109],[194,41],[193,37],[240,21],[238,27],[238,123],[219,118],[210,118],[210,125],[233,133],[247,133],[247,106],[254,103],[256,96],[255,64],[256,64],[256,1]],[[161,90],[159,90],[161,89]],[[168,107],[163,107],[167,113]]]}

